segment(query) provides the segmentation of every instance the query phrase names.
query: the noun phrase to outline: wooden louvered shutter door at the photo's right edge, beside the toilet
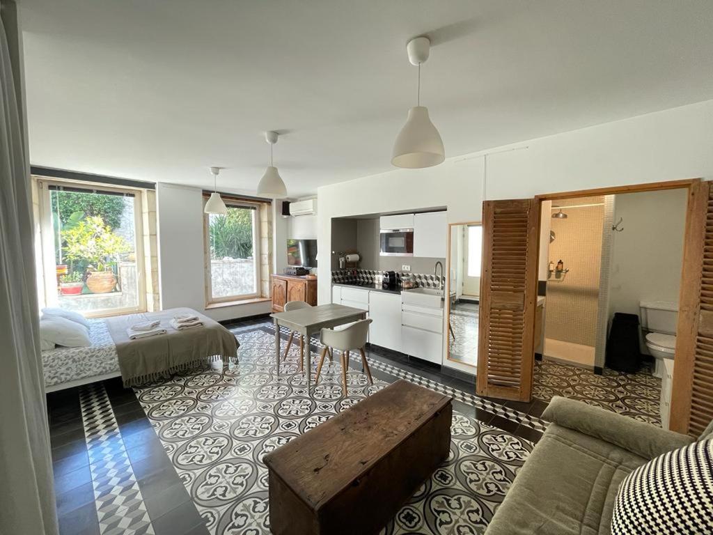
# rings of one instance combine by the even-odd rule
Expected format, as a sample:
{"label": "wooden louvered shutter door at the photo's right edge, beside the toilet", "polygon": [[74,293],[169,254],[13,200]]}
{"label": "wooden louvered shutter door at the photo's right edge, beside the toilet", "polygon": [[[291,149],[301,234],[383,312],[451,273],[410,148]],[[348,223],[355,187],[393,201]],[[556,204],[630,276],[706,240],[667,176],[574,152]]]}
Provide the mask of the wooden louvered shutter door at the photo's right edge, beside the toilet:
{"label": "wooden louvered shutter door at the photo's right edge, beside the toilet", "polygon": [[669,427],[698,437],[713,419],[713,192],[690,188]]}

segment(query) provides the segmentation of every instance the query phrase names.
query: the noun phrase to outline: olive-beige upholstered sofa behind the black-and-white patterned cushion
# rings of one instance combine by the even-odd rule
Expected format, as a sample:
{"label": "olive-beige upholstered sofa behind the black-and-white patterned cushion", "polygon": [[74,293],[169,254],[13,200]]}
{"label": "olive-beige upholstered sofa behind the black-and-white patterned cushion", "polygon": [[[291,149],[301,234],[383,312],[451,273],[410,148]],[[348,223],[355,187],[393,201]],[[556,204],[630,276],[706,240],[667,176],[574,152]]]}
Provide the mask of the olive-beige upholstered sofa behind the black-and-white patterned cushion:
{"label": "olive-beige upholstered sofa behind the black-and-white patterned cushion", "polygon": [[[518,472],[486,535],[610,534],[622,480],[694,439],[630,417],[555,397],[552,422]],[[713,435],[713,422],[702,437]]]}

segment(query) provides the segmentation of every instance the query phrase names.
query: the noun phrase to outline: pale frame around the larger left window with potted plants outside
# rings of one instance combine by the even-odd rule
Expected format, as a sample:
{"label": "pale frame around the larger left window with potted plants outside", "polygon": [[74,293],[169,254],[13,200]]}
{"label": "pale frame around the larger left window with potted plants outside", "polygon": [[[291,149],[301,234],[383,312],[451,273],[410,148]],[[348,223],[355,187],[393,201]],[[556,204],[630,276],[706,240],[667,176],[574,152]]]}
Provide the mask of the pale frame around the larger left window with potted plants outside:
{"label": "pale frame around the larger left window with potted plants outside", "polygon": [[136,258],[136,282],[138,283],[138,304],[135,307],[105,308],[100,310],[87,310],[80,312],[84,317],[111,317],[124,314],[137,314],[146,312],[146,272],[144,256],[144,236],[143,236],[143,190],[139,188],[129,188],[125,186],[106,185],[96,182],[84,182],[82,180],[69,180],[60,178],[45,178],[33,175],[39,192],[39,234],[41,258],[36,262],[41,263],[43,275],[43,300],[45,306],[58,306],[56,301],[56,266],[54,263],[54,233],[52,225],[51,195],[48,186],[69,187],[87,190],[89,193],[95,190],[108,191],[112,193],[131,193],[134,199],[134,240]]}

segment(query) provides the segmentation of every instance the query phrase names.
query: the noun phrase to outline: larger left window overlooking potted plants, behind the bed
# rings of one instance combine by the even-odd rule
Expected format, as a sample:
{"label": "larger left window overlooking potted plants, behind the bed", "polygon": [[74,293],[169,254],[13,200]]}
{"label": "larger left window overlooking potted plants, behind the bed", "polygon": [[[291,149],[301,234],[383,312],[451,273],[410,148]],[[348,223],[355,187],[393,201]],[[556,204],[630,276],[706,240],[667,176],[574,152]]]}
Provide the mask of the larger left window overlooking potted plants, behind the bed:
{"label": "larger left window overlooking potted plants, behind the bed", "polygon": [[140,190],[37,185],[44,304],[88,317],[146,310]]}

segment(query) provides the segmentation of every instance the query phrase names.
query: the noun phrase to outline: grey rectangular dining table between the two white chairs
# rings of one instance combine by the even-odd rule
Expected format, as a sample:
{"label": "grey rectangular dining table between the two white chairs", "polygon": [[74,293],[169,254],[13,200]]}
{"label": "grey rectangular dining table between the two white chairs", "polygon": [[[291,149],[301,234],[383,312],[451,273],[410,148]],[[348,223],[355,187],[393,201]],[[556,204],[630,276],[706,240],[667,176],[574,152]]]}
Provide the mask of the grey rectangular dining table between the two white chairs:
{"label": "grey rectangular dining table between the two white chairs", "polygon": [[322,329],[329,329],[366,319],[363,308],[345,307],[344,305],[318,305],[317,307],[300,308],[289,312],[275,312],[271,314],[275,322],[275,360],[277,361],[277,374],[279,375],[279,327],[287,327],[289,330],[299,332],[307,340],[307,392],[312,387],[312,343],[310,336]]}

